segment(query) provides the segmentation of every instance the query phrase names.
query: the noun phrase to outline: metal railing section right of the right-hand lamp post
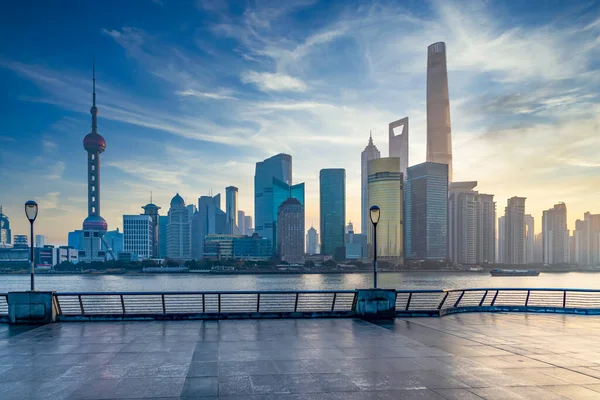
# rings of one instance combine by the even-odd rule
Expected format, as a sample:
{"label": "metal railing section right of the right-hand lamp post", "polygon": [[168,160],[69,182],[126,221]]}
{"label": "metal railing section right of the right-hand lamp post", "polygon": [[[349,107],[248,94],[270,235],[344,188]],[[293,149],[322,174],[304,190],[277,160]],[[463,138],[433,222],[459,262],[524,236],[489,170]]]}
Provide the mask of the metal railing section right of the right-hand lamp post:
{"label": "metal railing section right of the right-hand lamp post", "polygon": [[397,290],[396,314],[445,315],[466,311],[600,313],[600,290],[473,288]]}

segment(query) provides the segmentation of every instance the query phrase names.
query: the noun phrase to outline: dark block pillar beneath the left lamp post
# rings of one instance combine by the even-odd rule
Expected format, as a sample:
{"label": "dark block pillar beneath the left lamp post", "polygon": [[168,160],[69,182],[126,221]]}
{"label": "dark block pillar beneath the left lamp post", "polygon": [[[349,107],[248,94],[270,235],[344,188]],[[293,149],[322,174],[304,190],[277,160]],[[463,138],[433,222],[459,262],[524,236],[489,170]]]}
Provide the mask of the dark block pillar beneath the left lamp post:
{"label": "dark block pillar beneath the left lamp post", "polygon": [[48,324],[56,320],[54,292],[9,292],[9,324]]}

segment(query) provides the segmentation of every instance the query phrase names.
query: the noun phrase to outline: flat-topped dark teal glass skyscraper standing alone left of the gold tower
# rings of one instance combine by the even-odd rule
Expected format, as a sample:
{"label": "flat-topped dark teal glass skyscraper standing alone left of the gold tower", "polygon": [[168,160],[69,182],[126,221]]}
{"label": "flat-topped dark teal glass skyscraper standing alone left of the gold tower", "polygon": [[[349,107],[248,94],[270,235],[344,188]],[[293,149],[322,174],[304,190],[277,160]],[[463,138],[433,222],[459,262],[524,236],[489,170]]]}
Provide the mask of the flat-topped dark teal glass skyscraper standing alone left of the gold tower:
{"label": "flat-topped dark teal glass skyscraper standing alone left of the gold tower", "polygon": [[321,254],[333,256],[344,247],[346,223],[346,170],[322,169],[319,173]]}

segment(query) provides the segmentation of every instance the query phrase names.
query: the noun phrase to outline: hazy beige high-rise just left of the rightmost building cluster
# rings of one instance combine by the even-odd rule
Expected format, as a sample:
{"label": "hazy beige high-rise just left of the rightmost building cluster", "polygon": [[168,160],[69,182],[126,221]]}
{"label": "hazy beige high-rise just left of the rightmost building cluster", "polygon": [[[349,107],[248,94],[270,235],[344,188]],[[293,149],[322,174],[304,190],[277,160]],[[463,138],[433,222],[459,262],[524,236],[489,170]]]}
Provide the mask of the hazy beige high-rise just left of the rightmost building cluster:
{"label": "hazy beige high-rise just left of the rightmost building cluster", "polygon": [[570,261],[567,206],[555,204],[542,214],[543,263],[566,264]]}

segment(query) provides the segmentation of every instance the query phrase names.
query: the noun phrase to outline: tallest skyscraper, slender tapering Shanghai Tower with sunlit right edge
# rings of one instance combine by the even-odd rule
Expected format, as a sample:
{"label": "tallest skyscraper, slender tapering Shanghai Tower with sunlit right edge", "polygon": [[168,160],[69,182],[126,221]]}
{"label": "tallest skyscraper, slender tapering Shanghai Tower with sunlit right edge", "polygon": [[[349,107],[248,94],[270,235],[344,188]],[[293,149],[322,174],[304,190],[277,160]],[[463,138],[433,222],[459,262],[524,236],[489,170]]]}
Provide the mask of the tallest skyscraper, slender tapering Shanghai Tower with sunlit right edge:
{"label": "tallest skyscraper, slender tapering Shanghai Tower with sunlit right edge", "polygon": [[448,165],[452,181],[452,135],[446,43],[427,48],[427,161]]}

